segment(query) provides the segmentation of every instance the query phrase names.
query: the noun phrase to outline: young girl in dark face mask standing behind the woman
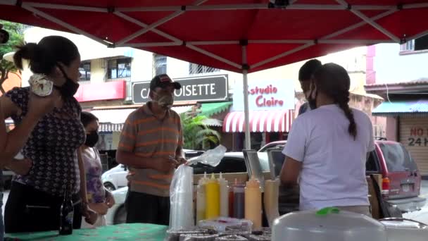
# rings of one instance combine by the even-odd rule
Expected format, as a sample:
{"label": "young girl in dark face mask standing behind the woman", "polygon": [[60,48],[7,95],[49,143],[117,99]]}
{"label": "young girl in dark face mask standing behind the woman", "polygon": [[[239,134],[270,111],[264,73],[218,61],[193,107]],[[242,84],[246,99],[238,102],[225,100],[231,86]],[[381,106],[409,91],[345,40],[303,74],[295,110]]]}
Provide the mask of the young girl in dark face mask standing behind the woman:
{"label": "young girl in dark face mask standing behind the woman", "polygon": [[86,132],[86,140],[82,145],[82,160],[86,173],[89,208],[98,214],[98,219],[94,225],[82,221],[82,228],[94,228],[106,225],[104,215],[115,204],[115,200],[111,192],[108,192],[103,186],[103,181],[101,180],[103,166],[101,165],[99,152],[94,148],[99,141],[98,118],[92,113],[82,112],[80,120]]}

